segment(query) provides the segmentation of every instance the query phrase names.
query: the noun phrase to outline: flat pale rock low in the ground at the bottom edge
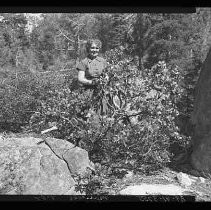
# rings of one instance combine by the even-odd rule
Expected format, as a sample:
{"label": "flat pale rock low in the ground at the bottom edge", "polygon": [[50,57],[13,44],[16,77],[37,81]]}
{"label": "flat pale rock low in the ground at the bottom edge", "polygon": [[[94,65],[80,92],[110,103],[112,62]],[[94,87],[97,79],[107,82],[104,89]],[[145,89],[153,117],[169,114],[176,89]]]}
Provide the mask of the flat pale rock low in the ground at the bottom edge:
{"label": "flat pale rock low in the ground at the bottom edge", "polygon": [[129,186],[119,192],[120,195],[183,195],[185,189],[174,184],[141,184]]}

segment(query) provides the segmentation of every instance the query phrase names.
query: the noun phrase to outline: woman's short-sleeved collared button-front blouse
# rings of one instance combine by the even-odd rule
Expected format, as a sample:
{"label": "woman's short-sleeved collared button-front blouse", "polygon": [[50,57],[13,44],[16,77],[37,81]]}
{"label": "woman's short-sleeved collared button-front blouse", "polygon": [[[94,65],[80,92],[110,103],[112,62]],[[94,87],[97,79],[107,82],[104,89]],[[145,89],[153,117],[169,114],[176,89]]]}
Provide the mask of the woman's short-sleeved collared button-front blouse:
{"label": "woman's short-sleeved collared button-front blouse", "polygon": [[106,60],[102,57],[97,56],[95,59],[85,58],[81,60],[76,69],[78,71],[85,71],[85,77],[87,79],[92,79],[99,77],[103,70],[106,68]]}

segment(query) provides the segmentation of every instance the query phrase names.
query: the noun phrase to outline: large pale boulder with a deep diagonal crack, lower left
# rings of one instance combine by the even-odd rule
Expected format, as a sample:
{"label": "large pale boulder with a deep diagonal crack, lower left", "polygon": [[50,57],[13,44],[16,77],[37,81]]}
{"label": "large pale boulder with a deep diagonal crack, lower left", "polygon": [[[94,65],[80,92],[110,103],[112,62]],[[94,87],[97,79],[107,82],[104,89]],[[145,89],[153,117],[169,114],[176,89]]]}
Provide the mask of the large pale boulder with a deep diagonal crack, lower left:
{"label": "large pale boulder with a deep diagonal crack, lower left", "polygon": [[88,153],[61,139],[40,142],[0,138],[0,194],[77,194],[72,175],[90,167]]}

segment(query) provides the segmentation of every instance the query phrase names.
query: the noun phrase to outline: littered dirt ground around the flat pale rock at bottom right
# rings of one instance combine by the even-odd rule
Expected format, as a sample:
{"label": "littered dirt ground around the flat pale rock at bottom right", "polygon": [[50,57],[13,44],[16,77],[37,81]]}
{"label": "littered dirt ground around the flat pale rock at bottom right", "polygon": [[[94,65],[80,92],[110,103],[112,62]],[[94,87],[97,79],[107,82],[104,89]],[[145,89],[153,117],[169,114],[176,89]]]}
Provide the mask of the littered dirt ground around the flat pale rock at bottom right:
{"label": "littered dirt ground around the flat pale rock at bottom right", "polygon": [[[181,170],[180,170],[181,172]],[[155,172],[153,175],[133,174],[130,177],[124,177],[122,179],[116,179],[110,177],[107,182],[111,183],[110,187],[104,189],[111,195],[118,195],[119,192],[128,186],[141,185],[141,184],[174,184],[181,186],[181,183],[177,179],[179,172],[170,168],[164,168],[161,171]],[[193,176],[192,174],[185,173],[192,180],[192,184],[185,187],[185,195],[191,195],[195,197],[196,202],[211,201],[211,179],[209,177],[200,178],[199,176]],[[109,184],[108,184],[109,185]],[[183,186],[184,187],[184,186]]]}

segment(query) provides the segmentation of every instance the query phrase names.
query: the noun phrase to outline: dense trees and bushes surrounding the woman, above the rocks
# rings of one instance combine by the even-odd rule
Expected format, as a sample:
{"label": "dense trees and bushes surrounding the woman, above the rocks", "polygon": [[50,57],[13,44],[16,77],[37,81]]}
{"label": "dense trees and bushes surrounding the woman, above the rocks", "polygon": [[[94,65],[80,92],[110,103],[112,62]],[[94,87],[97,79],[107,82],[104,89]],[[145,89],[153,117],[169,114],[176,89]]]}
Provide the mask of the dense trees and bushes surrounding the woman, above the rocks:
{"label": "dense trees and bushes surrounding the woman, above the rocks", "polygon": [[[175,148],[190,147],[194,87],[210,47],[209,8],[0,17],[1,132],[57,125],[51,134],[79,144],[93,162],[137,170],[162,167]],[[89,38],[102,41],[109,63],[101,91],[122,99],[103,119],[91,111],[88,120],[80,117],[87,95],[74,67]]]}

